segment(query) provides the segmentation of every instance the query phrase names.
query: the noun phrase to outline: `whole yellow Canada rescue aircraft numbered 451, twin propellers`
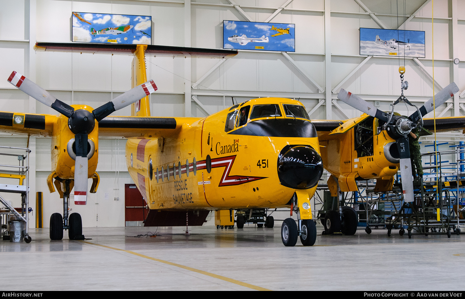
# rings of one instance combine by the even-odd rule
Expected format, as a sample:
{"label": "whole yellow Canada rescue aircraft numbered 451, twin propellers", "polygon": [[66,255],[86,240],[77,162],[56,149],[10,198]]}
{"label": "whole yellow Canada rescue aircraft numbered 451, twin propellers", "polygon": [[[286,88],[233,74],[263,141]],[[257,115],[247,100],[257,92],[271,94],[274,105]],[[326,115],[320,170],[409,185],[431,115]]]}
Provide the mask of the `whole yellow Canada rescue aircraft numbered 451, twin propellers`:
{"label": "whole yellow Canada rescue aircraft numbered 451, twin propellers", "polygon": [[[201,225],[210,211],[219,211],[229,225],[236,222],[243,227],[247,215],[238,212],[234,221],[233,210],[252,215],[254,209],[290,207],[298,222],[283,221],[283,244],[294,246],[300,238],[304,246],[312,246],[316,226],[310,199],[324,168],[332,173],[328,181],[332,189],[339,185],[341,191],[354,191],[356,179],[374,178],[379,181],[377,187],[389,190],[399,167],[410,166],[406,134],[419,120],[431,129],[431,122],[421,119],[434,109],[430,101],[407,118],[381,112],[344,90],[339,99],[366,114],[343,121],[310,120],[297,100],[259,98],[207,117],[152,117],[148,95],[157,86],[146,78],[146,53],[230,58],[237,51],[90,43],[37,43],[36,50],[134,55],[133,89],[95,109],[86,104],[69,106],[19,73],[8,78],[60,113],[0,112],[2,132],[52,137],[52,172],[47,184],[50,192],[56,188],[60,193],[64,210],[63,215],[51,215],[53,240],[62,239],[63,230],[68,230],[69,239],[84,238],[80,215],[68,215],[69,196],[74,192],[74,204],[83,205],[87,192],[97,191],[100,178],[95,170],[102,136],[127,139],[128,172],[150,209],[146,226],[185,225],[186,213],[191,225]],[[439,92],[436,106],[456,89],[452,83]],[[132,116],[111,115],[129,105]],[[17,116],[24,121],[15,122]],[[436,124],[438,129],[461,128],[465,118],[441,118]],[[93,180],[90,189],[88,179]],[[273,227],[272,216],[266,217],[265,224]],[[354,234],[356,229],[346,225],[343,232]]]}

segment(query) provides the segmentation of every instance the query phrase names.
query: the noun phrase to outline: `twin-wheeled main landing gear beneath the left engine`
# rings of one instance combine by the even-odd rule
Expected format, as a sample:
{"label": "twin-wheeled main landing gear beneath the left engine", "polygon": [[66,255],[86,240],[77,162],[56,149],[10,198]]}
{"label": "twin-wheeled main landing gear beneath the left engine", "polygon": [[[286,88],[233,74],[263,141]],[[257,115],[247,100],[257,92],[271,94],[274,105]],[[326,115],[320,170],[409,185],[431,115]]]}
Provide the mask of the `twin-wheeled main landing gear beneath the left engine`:
{"label": "twin-wheeled main landing gear beneath the left engine", "polygon": [[68,216],[69,193],[71,180],[63,181],[65,190],[63,191],[63,216],[60,213],[53,213],[50,216],[50,239],[63,239],[63,230],[68,230],[70,240],[83,240],[82,219],[79,213],[71,213]]}

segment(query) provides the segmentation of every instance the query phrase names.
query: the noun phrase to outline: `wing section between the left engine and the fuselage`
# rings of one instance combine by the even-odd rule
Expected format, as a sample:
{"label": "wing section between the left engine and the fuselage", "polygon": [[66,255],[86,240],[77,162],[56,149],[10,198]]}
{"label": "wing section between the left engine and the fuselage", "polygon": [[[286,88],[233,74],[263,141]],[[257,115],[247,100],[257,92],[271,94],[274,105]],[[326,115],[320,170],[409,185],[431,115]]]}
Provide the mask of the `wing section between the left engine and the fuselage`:
{"label": "wing section between the left engine and the fuselage", "polygon": [[184,124],[200,117],[107,116],[99,122],[99,136],[105,137],[172,137]]}

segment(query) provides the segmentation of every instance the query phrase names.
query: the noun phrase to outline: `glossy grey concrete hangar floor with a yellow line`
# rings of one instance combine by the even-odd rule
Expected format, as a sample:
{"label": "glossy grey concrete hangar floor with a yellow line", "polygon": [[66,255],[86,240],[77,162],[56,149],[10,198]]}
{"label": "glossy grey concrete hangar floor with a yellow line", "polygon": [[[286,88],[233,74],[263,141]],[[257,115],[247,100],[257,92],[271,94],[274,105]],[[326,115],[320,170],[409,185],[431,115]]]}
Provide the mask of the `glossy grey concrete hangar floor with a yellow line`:
{"label": "glossy grey concrete hangar floor with a yellow line", "polygon": [[[275,227],[217,230],[156,227],[84,228],[86,241],[0,240],[1,279],[26,290],[463,290],[465,235],[318,236],[315,246],[282,245]],[[320,234],[323,230],[317,226]],[[11,263],[11,264],[8,264]],[[13,265],[14,263],[14,265]],[[25,270],[20,270],[20,264]]]}

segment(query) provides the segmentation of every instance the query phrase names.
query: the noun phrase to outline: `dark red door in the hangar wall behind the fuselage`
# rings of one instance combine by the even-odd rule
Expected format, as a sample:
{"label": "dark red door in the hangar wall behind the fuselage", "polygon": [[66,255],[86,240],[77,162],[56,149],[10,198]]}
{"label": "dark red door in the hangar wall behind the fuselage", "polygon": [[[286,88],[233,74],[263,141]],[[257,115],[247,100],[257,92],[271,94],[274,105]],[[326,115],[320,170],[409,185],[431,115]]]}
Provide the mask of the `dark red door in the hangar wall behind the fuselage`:
{"label": "dark red door in the hangar wall behind the fuselage", "polygon": [[125,226],[144,226],[146,202],[135,184],[124,184]]}

